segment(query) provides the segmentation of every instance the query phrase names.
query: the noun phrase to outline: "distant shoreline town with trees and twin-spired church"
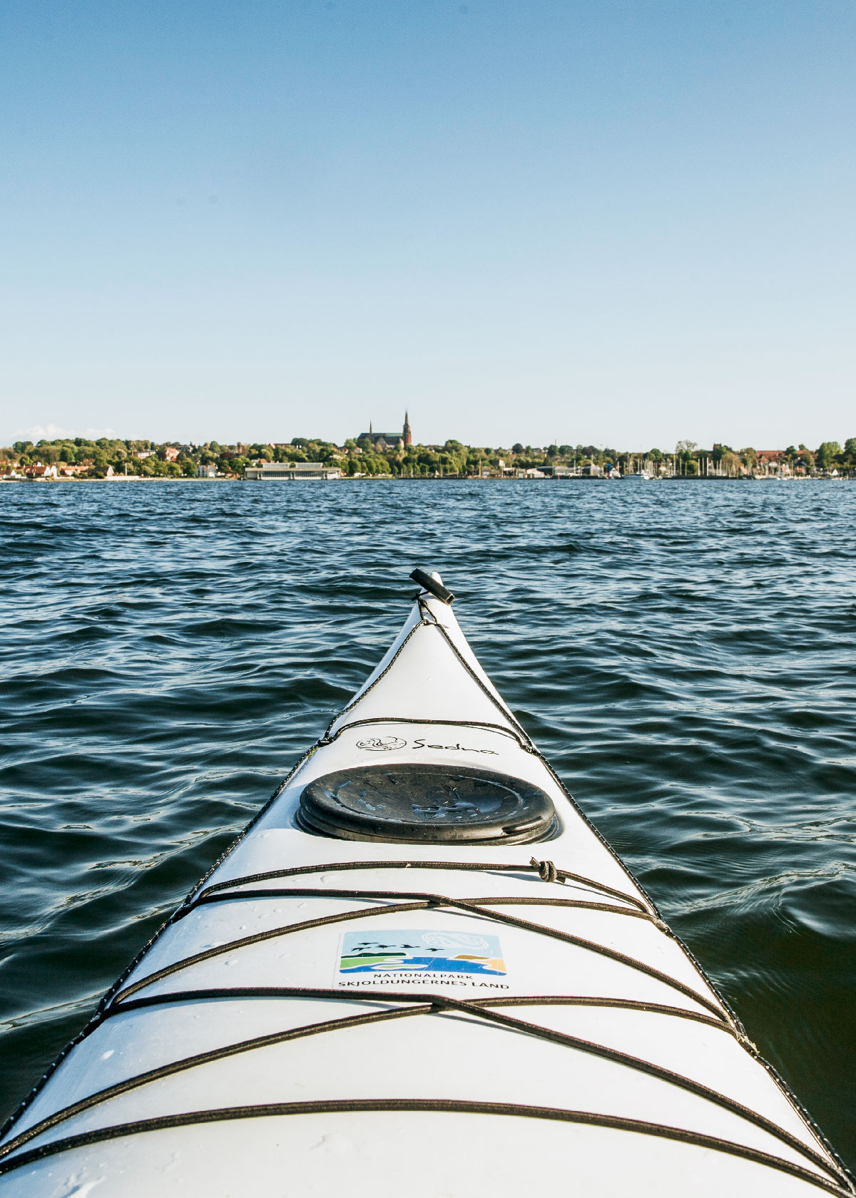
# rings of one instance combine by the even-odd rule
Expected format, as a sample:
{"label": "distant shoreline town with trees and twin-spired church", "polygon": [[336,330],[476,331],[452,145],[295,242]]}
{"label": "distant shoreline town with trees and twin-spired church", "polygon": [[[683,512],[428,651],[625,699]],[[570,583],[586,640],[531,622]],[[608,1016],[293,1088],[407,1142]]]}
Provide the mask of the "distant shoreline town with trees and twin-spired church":
{"label": "distant shoreline town with trees and twin-spired church", "polygon": [[185,444],[177,441],[62,437],[16,441],[0,448],[6,482],[60,479],[361,479],[361,478],[852,478],[856,437],[842,447],[824,441],[814,449],[710,448],[679,441],[674,450],[609,449],[583,444],[507,447],[414,442],[405,413],[400,432],[368,432],[333,444],[320,437],[252,444]]}

